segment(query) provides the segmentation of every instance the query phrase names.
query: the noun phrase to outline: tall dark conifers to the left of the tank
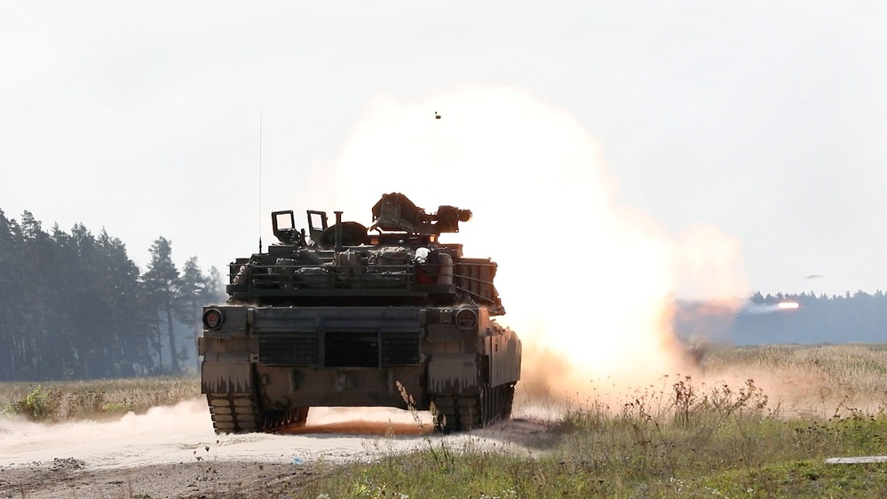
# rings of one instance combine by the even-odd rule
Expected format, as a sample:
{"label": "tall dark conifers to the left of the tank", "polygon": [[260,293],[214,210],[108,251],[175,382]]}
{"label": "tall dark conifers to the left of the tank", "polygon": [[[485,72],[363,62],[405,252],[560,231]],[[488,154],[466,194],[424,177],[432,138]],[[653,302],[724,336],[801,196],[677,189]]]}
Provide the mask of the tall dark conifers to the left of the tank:
{"label": "tall dark conifers to the left of the tank", "polygon": [[[158,237],[142,271],[105,229],[46,232],[0,210],[0,381],[177,374],[196,366],[202,305],[225,299],[216,267],[181,269]],[[194,363],[188,362],[194,360]]]}

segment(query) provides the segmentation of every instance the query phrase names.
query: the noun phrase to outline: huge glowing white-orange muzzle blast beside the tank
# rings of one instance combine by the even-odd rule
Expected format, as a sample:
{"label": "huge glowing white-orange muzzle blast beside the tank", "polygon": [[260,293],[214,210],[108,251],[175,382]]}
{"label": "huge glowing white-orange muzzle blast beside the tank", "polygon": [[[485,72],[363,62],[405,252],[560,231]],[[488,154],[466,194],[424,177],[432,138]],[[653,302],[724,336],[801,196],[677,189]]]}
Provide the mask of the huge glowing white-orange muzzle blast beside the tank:
{"label": "huge glowing white-orange muzzle blast beside the tank", "polygon": [[[435,119],[435,114],[440,119]],[[380,95],[299,202],[369,225],[381,194],[473,211],[465,254],[499,264],[500,321],[524,342],[519,391],[583,397],[654,383],[692,361],[671,331],[678,289],[742,296],[740,245],[716,227],[667,234],[619,202],[601,147],[576,116],[520,88],[456,84]]]}

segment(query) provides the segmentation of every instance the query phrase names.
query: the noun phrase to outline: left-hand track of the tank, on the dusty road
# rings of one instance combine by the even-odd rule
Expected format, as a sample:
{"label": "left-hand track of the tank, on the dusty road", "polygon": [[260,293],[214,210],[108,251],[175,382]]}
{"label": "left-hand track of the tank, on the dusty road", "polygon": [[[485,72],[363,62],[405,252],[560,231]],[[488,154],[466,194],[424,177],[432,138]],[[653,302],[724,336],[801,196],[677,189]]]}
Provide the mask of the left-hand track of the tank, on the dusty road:
{"label": "left-hand track of the tank, on the dusty road", "polygon": [[255,393],[207,393],[206,400],[217,433],[273,432],[308,419],[308,408],[262,410]]}

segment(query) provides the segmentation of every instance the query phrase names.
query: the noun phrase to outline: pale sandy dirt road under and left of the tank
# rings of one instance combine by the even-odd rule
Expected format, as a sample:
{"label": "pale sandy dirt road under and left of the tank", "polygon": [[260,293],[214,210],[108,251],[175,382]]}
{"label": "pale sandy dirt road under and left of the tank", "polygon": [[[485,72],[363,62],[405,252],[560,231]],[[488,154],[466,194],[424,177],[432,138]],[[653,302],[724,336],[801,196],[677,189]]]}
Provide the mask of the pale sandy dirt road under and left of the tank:
{"label": "pale sandy dirt road under and left of the tank", "polygon": [[[418,418],[418,422],[416,421]],[[421,423],[421,425],[420,425]],[[35,424],[0,419],[0,499],[299,497],[318,473],[350,460],[427,445],[427,439],[534,448],[549,432],[516,419],[458,435],[431,433],[431,416],[388,408],[313,408],[304,428],[217,435],[205,400],[113,422]]]}

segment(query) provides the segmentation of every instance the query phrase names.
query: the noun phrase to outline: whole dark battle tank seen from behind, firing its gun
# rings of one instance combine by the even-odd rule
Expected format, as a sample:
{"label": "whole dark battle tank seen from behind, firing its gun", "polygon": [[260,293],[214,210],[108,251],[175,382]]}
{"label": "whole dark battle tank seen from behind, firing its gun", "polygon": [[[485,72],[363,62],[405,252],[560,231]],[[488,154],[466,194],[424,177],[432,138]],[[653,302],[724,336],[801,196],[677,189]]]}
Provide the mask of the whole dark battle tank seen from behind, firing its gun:
{"label": "whole dark battle tank seen from behind, firing its gun", "polygon": [[432,409],[448,432],[511,414],[520,340],[496,264],[443,244],[471,211],[384,194],[369,228],[275,211],[279,243],[230,265],[226,305],[203,308],[202,392],[216,432],[303,425],[312,406]]}

